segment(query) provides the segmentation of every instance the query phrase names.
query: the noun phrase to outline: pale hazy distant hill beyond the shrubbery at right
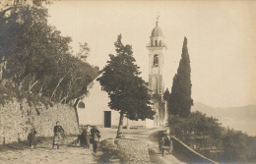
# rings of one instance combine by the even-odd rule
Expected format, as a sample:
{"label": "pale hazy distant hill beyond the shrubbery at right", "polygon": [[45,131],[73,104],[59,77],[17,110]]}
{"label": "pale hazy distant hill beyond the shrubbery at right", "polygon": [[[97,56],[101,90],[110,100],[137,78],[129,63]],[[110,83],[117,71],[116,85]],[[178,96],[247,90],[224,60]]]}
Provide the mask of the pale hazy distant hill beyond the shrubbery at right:
{"label": "pale hazy distant hill beyond the shrubbery at right", "polygon": [[245,132],[250,136],[256,136],[256,105],[214,108],[204,103],[196,102],[191,111],[200,111],[209,117],[212,116],[219,119],[224,127]]}

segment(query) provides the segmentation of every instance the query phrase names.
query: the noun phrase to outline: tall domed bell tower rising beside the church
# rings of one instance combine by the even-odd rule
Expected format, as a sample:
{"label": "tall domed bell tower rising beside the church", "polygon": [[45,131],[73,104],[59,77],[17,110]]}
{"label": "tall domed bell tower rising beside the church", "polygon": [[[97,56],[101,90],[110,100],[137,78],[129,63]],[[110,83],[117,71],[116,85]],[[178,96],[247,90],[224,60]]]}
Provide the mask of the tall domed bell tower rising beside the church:
{"label": "tall domed bell tower rising beside the church", "polygon": [[153,95],[153,109],[156,112],[154,116],[154,126],[159,127],[163,124],[163,111],[165,111],[162,93],[163,93],[163,62],[166,53],[162,30],[159,27],[159,17],[156,22],[156,27],[152,30],[150,43],[147,48],[149,50],[149,87]]}

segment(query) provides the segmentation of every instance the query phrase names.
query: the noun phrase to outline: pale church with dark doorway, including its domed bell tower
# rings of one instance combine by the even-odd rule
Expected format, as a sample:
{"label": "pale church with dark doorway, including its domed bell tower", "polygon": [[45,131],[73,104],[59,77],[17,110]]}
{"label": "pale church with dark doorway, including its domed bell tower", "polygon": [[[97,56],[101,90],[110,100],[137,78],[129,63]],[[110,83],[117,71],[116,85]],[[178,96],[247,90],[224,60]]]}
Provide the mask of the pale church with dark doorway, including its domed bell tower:
{"label": "pale church with dark doorway, including its domed bell tower", "polygon": [[[163,93],[163,57],[166,53],[166,46],[163,41],[163,34],[159,27],[159,21],[152,30],[149,50],[149,88],[153,96],[153,110],[156,111],[154,120],[131,121],[124,118],[123,126],[128,128],[153,128],[164,125],[166,121],[166,108],[162,100]],[[89,95],[84,97],[77,106],[80,125],[96,125],[104,128],[117,127],[119,124],[119,112],[108,107],[110,101],[108,94],[101,89],[100,83],[96,80],[91,83]]]}

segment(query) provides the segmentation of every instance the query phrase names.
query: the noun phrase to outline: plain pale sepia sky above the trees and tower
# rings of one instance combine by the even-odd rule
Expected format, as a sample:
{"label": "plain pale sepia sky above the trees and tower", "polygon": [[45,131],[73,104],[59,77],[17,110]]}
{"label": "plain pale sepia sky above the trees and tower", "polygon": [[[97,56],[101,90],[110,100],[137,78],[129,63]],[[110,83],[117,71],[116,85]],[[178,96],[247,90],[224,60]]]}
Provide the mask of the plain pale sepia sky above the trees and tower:
{"label": "plain pale sepia sky above the trees and tower", "polygon": [[131,44],[148,82],[150,35],[159,26],[165,37],[164,86],[171,90],[184,36],[191,61],[192,98],[214,107],[256,104],[256,2],[253,1],[54,1],[49,24],[71,46],[91,48],[88,62],[102,69],[115,54],[119,33]]}

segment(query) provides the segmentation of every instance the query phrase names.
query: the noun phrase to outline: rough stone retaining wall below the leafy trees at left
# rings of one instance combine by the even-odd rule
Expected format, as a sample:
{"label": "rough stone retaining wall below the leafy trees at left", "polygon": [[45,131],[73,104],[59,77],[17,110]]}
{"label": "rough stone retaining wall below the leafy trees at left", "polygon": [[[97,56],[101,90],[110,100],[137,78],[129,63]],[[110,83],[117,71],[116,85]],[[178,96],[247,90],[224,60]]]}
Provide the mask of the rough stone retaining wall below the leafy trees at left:
{"label": "rough stone retaining wall below the leafy trees at left", "polygon": [[32,128],[37,137],[52,137],[56,121],[60,122],[67,135],[79,132],[75,109],[68,105],[55,104],[46,107],[42,103],[29,105],[26,100],[0,105],[0,144],[27,139]]}

